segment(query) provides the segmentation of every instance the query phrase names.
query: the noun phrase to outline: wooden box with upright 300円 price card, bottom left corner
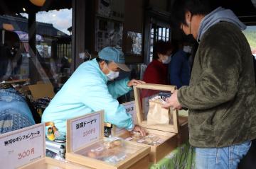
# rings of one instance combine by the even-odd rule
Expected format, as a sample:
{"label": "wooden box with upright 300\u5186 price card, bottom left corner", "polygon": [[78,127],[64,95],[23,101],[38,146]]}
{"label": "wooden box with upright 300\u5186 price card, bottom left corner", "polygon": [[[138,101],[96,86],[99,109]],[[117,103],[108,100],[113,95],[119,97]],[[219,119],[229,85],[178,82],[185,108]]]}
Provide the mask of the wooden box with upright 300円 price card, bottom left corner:
{"label": "wooden box with upright 300\u5186 price card, bottom left corner", "polygon": [[90,169],[82,165],[46,157],[45,124],[0,134],[1,168],[13,169]]}

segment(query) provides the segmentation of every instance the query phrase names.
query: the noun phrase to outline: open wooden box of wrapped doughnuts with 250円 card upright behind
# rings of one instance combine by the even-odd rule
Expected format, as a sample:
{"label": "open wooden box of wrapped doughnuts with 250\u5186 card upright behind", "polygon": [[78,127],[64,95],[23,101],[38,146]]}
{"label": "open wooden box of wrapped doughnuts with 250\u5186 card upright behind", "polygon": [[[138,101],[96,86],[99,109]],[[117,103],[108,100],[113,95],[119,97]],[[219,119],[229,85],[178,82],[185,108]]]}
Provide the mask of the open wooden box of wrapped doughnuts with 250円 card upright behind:
{"label": "open wooden box of wrapped doughnuts with 250\u5186 card upright behind", "polygon": [[[95,120],[95,124],[93,124],[92,120]],[[92,123],[89,123],[85,128],[87,122]],[[79,124],[83,125],[80,131],[78,131]],[[149,168],[149,146],[119,139],[107,140],[107,138],[104,138],[103,130],[103,111],[68,120],[66,160],[90,168]],[[92,132],[87,131],[93,131],[94,135]],[[96,131],[100,133],[97,134]],[[85,138],[81,143],[80,141],[83,138],[80,138],[79,133],[85,134]],[[85,141],[85,139],[88,139],[88,141]],[[118,144],[114,144],[114,141],[117,141]]]}

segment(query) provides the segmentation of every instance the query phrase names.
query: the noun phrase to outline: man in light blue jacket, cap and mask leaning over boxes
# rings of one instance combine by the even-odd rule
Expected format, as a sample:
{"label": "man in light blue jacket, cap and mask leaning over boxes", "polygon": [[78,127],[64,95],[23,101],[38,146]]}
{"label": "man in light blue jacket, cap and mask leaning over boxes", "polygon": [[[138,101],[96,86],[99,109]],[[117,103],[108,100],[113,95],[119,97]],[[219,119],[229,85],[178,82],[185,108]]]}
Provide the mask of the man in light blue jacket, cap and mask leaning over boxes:
{"label": "man in light blue jacket, cap and mask leaning over boxes", "polygon": [[134,126],[132,116],[119,105],[117,98],[132,90],[132,86],[144,83],[124,78],[107,84],[119,76],[119,70],[130,71],[124,64],[124,54],[119,47],[105,47],[99,57],[81,64],[51,100],[43,112],[42,122],[54,122],[61,135],[66,133],[66,120],[105,110],[105,122],[129,131],[144,129]]}

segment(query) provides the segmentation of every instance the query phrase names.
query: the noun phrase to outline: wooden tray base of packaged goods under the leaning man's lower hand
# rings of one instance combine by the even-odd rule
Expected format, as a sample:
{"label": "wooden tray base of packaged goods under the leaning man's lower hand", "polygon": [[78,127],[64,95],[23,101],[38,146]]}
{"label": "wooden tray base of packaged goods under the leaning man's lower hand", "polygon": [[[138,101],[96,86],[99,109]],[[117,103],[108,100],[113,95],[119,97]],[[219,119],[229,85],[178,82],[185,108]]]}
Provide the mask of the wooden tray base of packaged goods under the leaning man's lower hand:
{"label": "wooden tray base of packaged goods under the leaning man's lower hand", "polygon": [[[123,132],[119,136],[137,144],[148,145],[151,147],[149,161],[157,163],[168,153],[174,150],[178,144],[178,134],[162,132],[154,129],[146,129],[146,137],[134,136],[133,132]],[[155,141],[155,143],[154,143]]]}

